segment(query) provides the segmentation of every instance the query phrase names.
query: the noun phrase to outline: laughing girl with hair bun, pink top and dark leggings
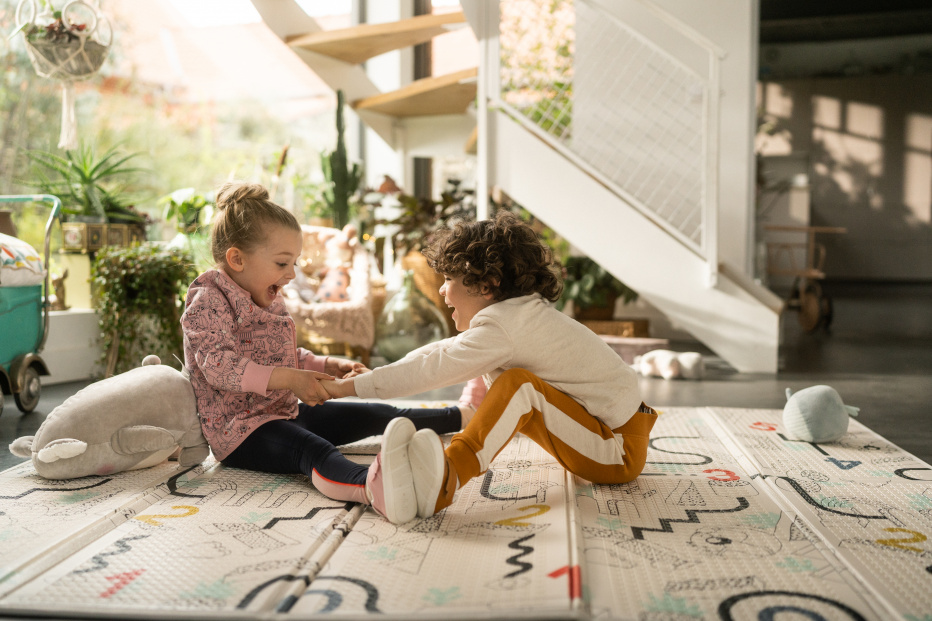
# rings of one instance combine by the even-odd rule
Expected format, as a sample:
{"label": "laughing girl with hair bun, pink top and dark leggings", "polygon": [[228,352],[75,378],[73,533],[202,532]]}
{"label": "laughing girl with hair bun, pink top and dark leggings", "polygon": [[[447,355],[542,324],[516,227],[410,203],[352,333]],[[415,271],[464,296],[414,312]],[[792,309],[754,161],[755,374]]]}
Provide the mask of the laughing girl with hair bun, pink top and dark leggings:
{"label": "laughing girl with hair bun, pink top and dark leggings", "polygon": [[[392,522],[413,519],[408,441],[415,428],[460,429],[460,410],[325,403],[319,380],[366,369],[296,347],[280,294],[295,277],[301,227],[254,184],[223,186],[217,210],[217,267],[191,283],[181,317],[185,366],[214,456],[237,468],[304,473],[330,498],[371,504]],[[382,451],[370,467],[334,447],[378,434]]]}

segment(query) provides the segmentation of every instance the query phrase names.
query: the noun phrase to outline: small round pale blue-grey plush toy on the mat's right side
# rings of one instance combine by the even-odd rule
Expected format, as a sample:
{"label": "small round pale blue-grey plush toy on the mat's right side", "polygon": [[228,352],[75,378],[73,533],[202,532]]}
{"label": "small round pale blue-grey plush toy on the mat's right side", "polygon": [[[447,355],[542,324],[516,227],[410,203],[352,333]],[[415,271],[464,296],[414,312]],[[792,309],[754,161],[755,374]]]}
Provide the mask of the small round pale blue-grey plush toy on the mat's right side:
{"label": "small round pale blue-grey plush toy on the mat's right side", "polygon": [[783,427],[787,435],[807,442],[834,442],[848,433],[848,417],[859,408],[845,405],[831,386],[786,389]]}

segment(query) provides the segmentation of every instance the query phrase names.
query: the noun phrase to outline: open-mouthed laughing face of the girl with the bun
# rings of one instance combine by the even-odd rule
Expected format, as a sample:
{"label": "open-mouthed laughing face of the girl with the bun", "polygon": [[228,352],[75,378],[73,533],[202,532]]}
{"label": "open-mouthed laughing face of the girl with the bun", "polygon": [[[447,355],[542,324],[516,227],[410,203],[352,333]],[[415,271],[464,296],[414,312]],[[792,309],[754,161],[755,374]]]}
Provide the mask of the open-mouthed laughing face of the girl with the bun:
{"label": "open-mouthed laughing face of the girl with the bun", "polygon": [[300,231],[280,224],[267,224],[264,232],[265,241],[249,252],[228,249],[224,266],[233,282],[248,291],[252,301],[262,308],[271,305],[282,287],[295,277],[294,266],[302,244]]}

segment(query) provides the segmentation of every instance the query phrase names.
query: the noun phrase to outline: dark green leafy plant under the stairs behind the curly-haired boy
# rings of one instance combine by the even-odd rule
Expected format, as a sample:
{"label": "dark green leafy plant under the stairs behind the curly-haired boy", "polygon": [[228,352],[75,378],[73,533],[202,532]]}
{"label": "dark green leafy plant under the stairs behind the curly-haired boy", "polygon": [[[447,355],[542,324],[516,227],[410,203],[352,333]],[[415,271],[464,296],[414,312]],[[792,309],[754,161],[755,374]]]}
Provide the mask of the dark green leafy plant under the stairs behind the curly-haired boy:
{"label": "dark green leafy plant under the stairs behind the curly-haired boy", "polygon": [[571,256],[563,261],[563,295],[557,301],[558,309],[572,300],[577,319],[609,321],[619,297],[628,304],[638,294],[587,256]]}

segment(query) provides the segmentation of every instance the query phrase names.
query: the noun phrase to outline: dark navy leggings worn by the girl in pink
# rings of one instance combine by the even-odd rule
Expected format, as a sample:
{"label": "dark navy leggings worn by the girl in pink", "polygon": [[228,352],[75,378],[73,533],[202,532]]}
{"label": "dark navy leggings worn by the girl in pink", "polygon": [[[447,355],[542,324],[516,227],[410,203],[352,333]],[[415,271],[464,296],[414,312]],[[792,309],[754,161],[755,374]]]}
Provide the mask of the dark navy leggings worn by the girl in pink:
{"label": "dark navy leggings worn by the girl in pink", "polygon": [[303,473],[308,478],[317,470],[331,481],[365,485],[368,466],[350,461],[334,445],[380,435],[399,416],[410,418],[418,429],[441,434],[460,430],[457,407],[396,408],[357,401],[326,401],[311,407],[298,403],[296,418],[272,420],[256,428],[223,464],[277,474]]}

